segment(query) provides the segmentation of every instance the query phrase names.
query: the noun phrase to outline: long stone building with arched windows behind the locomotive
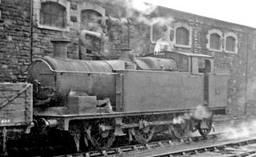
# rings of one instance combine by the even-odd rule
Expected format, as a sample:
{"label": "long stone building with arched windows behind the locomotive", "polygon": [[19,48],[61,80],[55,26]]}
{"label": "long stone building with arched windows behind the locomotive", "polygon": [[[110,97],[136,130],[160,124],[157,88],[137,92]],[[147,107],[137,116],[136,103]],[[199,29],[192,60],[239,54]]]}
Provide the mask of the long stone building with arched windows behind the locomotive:
{"label": "long stone building with arched windows behind the locomotive", "polygon": [[214,57],[230,70],[230,114],[254,114],[256,29],[165,7],[137,10],[130,0],[1,0],[0,81],[26,81],[36,57],[52,55],[50,40],[68,37],[68,57],[115,59],[161,49]]}

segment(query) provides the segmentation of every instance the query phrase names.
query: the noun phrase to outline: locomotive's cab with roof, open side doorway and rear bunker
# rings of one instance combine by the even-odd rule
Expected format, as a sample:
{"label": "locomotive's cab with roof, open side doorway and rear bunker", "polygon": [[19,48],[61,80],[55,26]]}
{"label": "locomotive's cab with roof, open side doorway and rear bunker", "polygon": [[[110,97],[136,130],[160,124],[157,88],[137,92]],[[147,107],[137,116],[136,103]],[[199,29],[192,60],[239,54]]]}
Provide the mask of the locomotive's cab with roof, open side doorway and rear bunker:
{"label": "locomotive's cab with roof, open side doorway and rear bunker", "polygon": [[[154,55],[150,53],[147,56]],[[215,69],[213,57],[198,53],[163,51],[155,57],[172,58],[178,61],[180,72],[190,73],[191,77],[202,76],[203,104],[219,108],[216,112],[226,114],[228,69]]]}

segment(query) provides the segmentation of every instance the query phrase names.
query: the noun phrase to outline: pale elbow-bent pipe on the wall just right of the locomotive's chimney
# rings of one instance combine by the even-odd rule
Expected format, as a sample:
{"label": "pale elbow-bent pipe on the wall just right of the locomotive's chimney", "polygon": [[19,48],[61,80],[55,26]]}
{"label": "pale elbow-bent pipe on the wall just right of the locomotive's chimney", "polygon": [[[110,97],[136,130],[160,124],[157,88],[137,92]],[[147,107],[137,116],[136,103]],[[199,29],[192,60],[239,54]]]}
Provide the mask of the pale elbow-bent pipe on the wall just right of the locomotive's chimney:
{"label": "pale elbow-bent pipe on the wall just right of the locomotive's chimney", "polygon": [[[94,32],[90,30],[83,29],[79,37],[79,60],[82,60],[82,52],[86,54],[86,35],[93,37],[98,37],[101,42],[103,41],[104,33]],[[102,44],[101,44],[102,46]]]}

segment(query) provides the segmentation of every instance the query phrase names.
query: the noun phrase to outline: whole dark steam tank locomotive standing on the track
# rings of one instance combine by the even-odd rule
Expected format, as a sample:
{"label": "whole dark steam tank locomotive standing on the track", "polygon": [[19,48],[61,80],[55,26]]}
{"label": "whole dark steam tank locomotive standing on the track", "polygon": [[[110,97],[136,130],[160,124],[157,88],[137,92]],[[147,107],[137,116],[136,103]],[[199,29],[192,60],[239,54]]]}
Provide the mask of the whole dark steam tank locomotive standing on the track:
{"label": "whole dark steam tank locomotive standing on the track", "polygon": [[[161,131],[181,139],[188,131],[207,135],[213,116],[226,114],[229,74],[214,69],[211,56],[134,57],[124,49],[118,60],[85,61],[67,58],[65,39],[53,43],[54,56],[28,69],[34,127],[24,135],[27,143],[69,153],[106,149],[116,137],[148,143]],[[17,143],[10,145],[22,147]]]}

